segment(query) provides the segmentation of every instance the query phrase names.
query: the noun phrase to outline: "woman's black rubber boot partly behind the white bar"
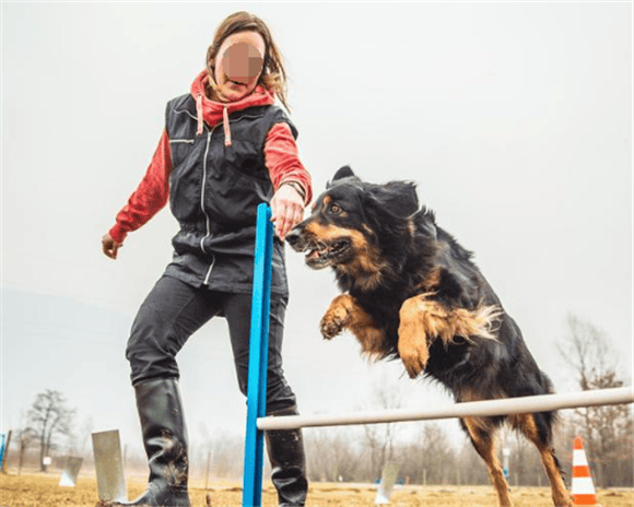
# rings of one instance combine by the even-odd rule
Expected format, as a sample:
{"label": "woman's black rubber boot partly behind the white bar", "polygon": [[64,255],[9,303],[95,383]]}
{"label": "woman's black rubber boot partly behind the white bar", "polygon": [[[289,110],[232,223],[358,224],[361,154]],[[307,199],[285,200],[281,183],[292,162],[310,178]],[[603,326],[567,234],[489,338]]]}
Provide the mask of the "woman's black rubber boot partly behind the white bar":
{"label": "woman's black rubber boot partly behind the white bar", "polygon": [[[291,406],[268,415],[297,414],[297,408]],[[308,494],[308,480],[302,429],[271,429],[265,436],[271,461],[271,481],[278,490],[280,507],[304,506]]]}

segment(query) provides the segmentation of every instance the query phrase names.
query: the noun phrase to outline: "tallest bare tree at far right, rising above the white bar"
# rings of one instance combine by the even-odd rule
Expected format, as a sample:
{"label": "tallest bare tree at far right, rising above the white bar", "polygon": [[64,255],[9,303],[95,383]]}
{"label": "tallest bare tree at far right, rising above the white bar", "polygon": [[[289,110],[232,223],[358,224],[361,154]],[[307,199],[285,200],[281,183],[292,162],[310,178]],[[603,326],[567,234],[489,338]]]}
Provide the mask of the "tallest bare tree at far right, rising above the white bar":
{"label": "tallest bare tree at far right, rising above the white bar", "polygon": [[[559,346],[564,362],[575,372],[582,390],[622,387],[618,355],[607,334],[574,315],[566,318],[567,332]],[[595,465],[596,481],[613,484],[617,463],[632,457],[632,413],[626,405],[589,406],[576,411],[580,433]]]}

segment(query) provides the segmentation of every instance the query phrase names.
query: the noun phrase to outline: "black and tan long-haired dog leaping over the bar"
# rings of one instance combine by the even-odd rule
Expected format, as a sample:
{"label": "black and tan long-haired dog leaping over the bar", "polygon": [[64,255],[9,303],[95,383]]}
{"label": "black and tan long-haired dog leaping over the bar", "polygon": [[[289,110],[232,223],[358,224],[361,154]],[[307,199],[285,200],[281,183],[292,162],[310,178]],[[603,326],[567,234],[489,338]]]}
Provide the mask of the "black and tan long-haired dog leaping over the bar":
{"label": "black and tan long-haired dog leaping over the bar", "polygon": [[[419,209],[413,184],[373,185],[342,167],[286,239],[310,268],[334,270],[342,294],[321,319],[325,338],[348,329],[369,356],[400,357],[410,377],[441,381],[458,402],[552,392],[471,254]],[[539,449],[554,505],[572,506],[552,449],[554,413],[466,417],[500,505],[510,505],[495,456],[504,421]]]}

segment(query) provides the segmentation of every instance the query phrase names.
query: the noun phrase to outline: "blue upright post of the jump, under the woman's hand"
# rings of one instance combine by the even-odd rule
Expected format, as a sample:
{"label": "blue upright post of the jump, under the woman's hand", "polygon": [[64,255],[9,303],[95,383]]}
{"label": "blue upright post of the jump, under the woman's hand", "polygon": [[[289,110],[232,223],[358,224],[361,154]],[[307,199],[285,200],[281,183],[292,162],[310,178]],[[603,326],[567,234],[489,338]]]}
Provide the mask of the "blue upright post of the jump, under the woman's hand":
{"label": "blue upright post of the jump, under the woman's hand", "polygon": [[265,438],[263,432],[258,431],[257,420],[267,414],[272,255],[273,224],[271,223],[271,210],[266,203],[262,203],[258,207],[254,261],[243,507],[260,507],[262,503]]}

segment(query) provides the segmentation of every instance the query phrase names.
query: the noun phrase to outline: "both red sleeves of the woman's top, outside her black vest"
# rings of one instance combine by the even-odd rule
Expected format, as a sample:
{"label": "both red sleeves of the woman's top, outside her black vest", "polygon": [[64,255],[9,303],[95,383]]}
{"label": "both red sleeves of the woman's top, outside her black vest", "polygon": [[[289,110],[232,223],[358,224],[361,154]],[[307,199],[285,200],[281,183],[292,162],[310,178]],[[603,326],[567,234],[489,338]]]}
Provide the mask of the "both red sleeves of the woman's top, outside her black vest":
{"label": "both red sleeves of the woman's top, outside her black vest", "polygon": [[[297,145],[287,123],[271,127],[263,150],[273,189],[277,191],[283,184],[295,181],[304,189],[304,204],[308,204],[313,200],[310,175],[300,162]],[[145,176],[109,231],[117,243],[122,243],[128,233],[144,225],[167,204],[172,167],[169,138],[164,130]]]}

